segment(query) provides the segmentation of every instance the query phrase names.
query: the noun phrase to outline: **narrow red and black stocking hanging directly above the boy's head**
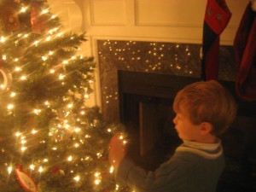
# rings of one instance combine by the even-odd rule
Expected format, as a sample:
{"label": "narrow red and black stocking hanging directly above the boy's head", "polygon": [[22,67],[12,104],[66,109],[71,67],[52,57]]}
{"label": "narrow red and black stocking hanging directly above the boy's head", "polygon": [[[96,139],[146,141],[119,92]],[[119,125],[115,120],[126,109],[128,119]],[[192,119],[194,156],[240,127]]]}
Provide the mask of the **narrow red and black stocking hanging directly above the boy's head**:
{"label": "narrow red and black stocking hanging directly above the boy's head", "polygon": [[225,0],[208,0],[203,26],[201,78],[218,79],[219,35],[231,18]]}

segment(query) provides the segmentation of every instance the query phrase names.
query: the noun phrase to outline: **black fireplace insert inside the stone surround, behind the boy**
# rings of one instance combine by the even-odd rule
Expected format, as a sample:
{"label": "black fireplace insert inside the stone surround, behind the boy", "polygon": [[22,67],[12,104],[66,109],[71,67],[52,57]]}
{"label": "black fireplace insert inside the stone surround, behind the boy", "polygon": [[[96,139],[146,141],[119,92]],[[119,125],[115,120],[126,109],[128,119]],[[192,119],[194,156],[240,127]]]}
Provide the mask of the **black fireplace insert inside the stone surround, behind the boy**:
{"label": "black fireplace insert inside the stone surround, behind the boy", "polygon": [[[177,91],[198,78],[118,71],[119,113],[131,137],[128,155],[154,170],[181,143],[174,129],[172,102]],[[236,96],[235,83],[220,81]],[[226,167],[218,192],[256,191],[256,102],[236,97],[238,114],[222,137]]]}

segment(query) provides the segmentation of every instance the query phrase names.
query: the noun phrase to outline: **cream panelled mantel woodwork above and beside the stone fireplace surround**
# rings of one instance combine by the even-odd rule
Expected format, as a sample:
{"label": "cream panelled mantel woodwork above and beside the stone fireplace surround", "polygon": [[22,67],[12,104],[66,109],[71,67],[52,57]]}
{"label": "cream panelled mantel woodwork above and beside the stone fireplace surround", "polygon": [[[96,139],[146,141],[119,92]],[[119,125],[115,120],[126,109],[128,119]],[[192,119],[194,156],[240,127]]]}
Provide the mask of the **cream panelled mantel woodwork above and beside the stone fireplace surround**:
{"label": "cream panelled mantel woodwork above and beside the stone fireplace surround", "polygon": [[[67,27],[86,32],[89,41],[84,44],[84,53],[94,56],[97,56],[97,39],[201,44],[207,4],[207,0],[48,1],[50,5],[58,4],[54,7],[62,12]],[[233,44],[248,2],[249,0],[226,0],[232,17],[220,36],[220,44]],[[92,104],[101,106],[100,90],[97,71]]]}

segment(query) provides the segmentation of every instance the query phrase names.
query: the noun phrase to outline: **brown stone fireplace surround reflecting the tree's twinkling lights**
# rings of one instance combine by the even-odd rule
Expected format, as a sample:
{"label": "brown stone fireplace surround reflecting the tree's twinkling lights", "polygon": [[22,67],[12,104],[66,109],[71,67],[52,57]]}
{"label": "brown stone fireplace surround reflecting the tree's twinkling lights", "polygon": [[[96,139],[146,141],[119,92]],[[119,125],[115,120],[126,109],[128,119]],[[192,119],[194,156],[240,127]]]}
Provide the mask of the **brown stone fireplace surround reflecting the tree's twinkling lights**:
{"label": "brown stone fireplace surround reflecting the tree's twinkling lights", "polygon": [[[119,120],[117,70],[201,77],[201,44],[98,40],[102,112]],[[233,80],[236,62],[232,46],[220,46],[219,79]],[[111,113],[108,113],[111,112]]]}

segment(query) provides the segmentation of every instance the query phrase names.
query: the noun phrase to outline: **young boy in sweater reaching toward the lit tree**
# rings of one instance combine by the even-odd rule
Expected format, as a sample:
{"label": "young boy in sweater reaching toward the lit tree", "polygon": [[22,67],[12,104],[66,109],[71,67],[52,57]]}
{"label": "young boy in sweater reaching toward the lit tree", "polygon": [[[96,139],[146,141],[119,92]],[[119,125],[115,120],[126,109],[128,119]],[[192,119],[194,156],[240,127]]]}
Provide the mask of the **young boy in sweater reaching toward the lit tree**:
{"label": "young boy in sweater reaching toward the lit tree", "polygon": [[146,172],[125,157],[120,135],[110,141],[109,161],[118,182],[136,192],[214,192],[224,169],[218,136],[236,116],[233,96],[215,80],[189,84],[177,93],[173,119],[183,144],[170,160]]}

